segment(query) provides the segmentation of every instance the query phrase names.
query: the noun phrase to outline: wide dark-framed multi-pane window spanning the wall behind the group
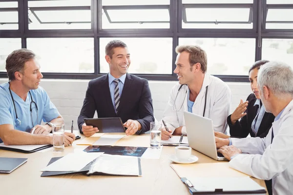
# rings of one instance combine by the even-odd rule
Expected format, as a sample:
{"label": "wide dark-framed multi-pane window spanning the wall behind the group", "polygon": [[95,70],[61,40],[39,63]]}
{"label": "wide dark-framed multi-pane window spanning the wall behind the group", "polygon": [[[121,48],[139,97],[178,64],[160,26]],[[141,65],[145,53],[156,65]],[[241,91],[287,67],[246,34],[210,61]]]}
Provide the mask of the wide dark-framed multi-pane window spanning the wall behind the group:
{"label": "wide dark-framed multi-pane window spanning the wall behind the group", "polygon": [[209,74],[248,82],[256,60],[293,65],[293,0],[0,0],[0,77],[22,47],[44,78],[98,78],[113,39],[142,78],[177,80],[175,48],[192,44],[207,52]]}

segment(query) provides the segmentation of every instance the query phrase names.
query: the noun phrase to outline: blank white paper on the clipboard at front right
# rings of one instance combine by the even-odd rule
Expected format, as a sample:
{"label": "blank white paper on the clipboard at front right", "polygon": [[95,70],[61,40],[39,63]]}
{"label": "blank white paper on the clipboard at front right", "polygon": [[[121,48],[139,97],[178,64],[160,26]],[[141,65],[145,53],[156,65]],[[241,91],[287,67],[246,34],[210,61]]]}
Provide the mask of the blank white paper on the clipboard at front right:
{"label": "blank white paper on the clipboard at front right", "polygon": [[247,177],[189,177],[187,178],[195,190],[214,191],[223,189],[223,191],[252,191],[263,190],[258,183]]}

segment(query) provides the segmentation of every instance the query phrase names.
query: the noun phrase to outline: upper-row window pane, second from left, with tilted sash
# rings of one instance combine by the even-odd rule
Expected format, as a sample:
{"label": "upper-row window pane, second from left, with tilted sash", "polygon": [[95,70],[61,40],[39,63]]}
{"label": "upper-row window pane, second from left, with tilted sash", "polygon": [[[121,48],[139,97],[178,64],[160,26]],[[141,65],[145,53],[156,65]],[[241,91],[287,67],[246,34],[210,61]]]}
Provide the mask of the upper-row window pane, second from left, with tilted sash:
{"label": "upper-row window pane, second from left, with tilted sash", "polygon": [[28,6],[30,30],[91,29],[90,0],[29,1]]}

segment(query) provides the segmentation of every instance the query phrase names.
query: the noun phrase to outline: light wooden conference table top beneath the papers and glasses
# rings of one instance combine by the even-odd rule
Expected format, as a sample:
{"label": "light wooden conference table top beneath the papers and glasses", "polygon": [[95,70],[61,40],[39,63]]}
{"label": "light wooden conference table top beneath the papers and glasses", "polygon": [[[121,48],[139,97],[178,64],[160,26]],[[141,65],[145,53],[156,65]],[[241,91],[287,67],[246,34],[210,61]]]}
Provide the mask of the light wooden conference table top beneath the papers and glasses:
{"label": "light wooden conference table top beneath the papers and glasses", "polygon": [[[79,135],[78,131],[74,131]],[[82,136],[82,139],[84,136]],[[93,137],[97,140],[99,137]],[[164,146],[160,159],[142,159],[142,177],[137,176],[84,176],[68,174],[63,176],[41,177],[42,168],[46,167],[52,157],[64,156],[74,150],[82,150],[86,146],[65,147],[64,152],[56,153],[53,149],[46,152],[23,154],[0,150],[1,157],[26,157],[27,162],[10,174],[0,174],[1,195],[189,195],[188,188],[170,167],[168,158],[174,154],[173,146]],[[117,142],[122,146],[149,146],[149,135],[128,136]],[[196,163],[218,162],[195,150],[192,155],[199,158]],[[227,162],[227,161],[226,161]],[[72,162],[74,163],[74,162]],[[222,163],[222,162],[218,162]],[[211,164],[212,166],[212,164]],[[254,181],[265,187],[263,180],[252,177]]]}

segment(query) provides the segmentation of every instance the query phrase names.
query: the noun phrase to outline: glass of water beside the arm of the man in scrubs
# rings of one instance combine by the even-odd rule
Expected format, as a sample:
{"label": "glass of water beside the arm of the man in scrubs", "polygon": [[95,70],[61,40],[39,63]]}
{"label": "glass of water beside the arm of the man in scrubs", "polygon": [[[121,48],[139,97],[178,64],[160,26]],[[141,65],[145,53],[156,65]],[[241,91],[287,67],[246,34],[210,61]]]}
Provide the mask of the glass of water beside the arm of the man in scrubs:
{"label": "glass of water beside the arm of the man in scrubs", "polygon": [[53,132],[53,149],[54,152],[64,151],[64,124],[54,124]]}

